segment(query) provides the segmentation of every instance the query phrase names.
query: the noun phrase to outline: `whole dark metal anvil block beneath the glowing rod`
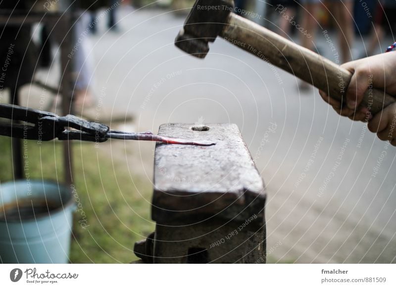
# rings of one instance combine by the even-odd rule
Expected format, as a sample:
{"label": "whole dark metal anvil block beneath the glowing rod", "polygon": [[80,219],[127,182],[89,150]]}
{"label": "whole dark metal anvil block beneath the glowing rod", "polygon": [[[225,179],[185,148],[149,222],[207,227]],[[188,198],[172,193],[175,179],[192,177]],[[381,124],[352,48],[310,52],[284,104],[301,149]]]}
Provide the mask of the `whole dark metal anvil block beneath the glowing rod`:
{"label": "whole dark metal anvil block beneath the glowing rod", "polygon": [[265,263],[264,184],[237,125],[171,123],[158,134],[216,145],[156,145],[156,229],[135,253],[149,263]]}

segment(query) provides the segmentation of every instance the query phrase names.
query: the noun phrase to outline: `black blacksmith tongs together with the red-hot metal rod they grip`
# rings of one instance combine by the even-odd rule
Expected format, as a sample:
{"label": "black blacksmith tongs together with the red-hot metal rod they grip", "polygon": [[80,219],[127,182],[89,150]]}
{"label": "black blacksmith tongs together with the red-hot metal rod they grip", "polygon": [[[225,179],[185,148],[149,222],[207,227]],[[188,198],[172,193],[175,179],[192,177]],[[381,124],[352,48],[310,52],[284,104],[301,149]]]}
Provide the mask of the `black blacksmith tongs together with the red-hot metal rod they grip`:
{"label": "black blacksmith tongs together with the red-hot metal rod they grip", "polygon": [[0,104],[0,118],[12,120],[10,123],[0,123],[0,135],[26,140],[49,141],[57,138],[59,140],[81,140],[99,143],[114,138],[199,146],[215,144],[210,141],[163,137],[151,132],[129,133],[110,130],[104,124],[90,122],[74,115],[60,117],[54,113],[11,104]]}

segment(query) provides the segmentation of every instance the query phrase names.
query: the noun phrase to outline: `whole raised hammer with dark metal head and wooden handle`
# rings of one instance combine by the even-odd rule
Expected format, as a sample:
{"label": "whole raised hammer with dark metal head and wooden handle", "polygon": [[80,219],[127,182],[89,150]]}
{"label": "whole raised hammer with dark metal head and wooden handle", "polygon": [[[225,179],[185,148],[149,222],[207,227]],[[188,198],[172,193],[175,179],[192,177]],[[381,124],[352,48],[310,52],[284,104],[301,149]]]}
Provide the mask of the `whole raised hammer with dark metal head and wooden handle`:
{"label": "whole raised hammer with dark metal head and wooden handle", "polygon": [[[294,74],[342,103],[352,74],[336,63],[233,13],[233,0],[196,0],[175,45],[198,58],[219,36],[227,42]],[[377,113],[395,102],[384,91],[366,91],[361,107]]]}

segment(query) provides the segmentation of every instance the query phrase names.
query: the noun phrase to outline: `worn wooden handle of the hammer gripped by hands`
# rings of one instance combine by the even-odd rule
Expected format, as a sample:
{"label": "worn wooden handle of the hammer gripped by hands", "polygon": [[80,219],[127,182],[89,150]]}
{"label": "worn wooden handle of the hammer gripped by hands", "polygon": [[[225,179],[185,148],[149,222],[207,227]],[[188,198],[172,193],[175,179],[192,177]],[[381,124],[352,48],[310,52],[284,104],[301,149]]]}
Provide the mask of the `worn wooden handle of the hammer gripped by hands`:
{"label": "worn wooden handle of the hammer gripped by hands", "polygon": [[[343,97],[352,77],[349,71],[234,13],[230,13],[227,23],[220,34],[226,41],[294,74],[345,104]],[[360,106],[369,107],[375,114],[393,102],[393,96],[370,89]]]}

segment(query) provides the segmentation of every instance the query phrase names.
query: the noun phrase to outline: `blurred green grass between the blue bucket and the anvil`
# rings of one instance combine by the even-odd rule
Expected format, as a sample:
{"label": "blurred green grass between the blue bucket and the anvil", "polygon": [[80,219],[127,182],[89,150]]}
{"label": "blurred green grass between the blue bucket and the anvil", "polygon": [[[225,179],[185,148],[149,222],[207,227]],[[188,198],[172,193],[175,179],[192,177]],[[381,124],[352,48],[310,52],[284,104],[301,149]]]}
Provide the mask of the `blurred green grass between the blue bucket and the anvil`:
{"label": "blurred green grass between the blue bucket and the anvil", "polygon": [[[0,137],[0,181],[12,180],[11,140]],[[23,144],[31,179],[63,181],[61,141]],[[112,159],[109,144],[73,143],[74,183],[81,210],[74,215],[72,263],[129,263],[137,240],[154,230],[149,180],[130,175],[127,161]],[[130,151],[128,151],[130,152]],[[86,228],[80,223],[84,222]]]}

